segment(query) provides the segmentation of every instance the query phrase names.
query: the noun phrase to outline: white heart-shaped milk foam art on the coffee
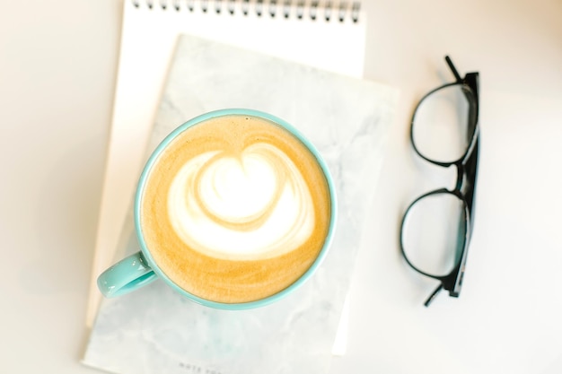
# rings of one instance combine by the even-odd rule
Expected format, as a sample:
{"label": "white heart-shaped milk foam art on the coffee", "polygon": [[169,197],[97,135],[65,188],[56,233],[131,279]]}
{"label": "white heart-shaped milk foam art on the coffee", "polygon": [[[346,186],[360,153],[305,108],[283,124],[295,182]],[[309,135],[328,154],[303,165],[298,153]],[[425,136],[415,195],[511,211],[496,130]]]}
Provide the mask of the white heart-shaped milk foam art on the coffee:
{"label": "white heart-shaped milk foam art on the coffee", "polygon": [[299,248],[314,230],[301,172],[272,144],[241,154],[204,152],[186,161],[168,195],[173,230],[212,257],[259,259]]}

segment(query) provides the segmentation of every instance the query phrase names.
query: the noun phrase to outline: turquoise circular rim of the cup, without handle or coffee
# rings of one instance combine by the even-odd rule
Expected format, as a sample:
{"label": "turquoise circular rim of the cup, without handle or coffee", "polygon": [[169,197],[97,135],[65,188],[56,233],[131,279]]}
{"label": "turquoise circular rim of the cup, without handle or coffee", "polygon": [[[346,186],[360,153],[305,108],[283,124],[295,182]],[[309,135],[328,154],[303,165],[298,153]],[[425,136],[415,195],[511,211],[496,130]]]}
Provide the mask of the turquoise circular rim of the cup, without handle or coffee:
{"label": "turquoise circular rim of the cup, without handle or coffee", "polygon": [[[324,240],[324,245],[321,248],[320,253],[314,259],[312,265],[303,273],[294,283],[288,285],[285,289],[278,291],[268,297],[259,300],[252,300],[247,302],[239,302],[239,303],[226,303],[214,300],[207,300],[201,298],[189,291],[182,289],[178,284],[174,283],[171,278],[164,274],[162,269],[158,265],[156,265],[152,254],[150,253],[149,248],[147,248],[145,239],[143,238],[141,222],[140,222],[140,205],[142,201],[143,192],[145,189],[146,180],[148,175],[150,174],[150,170],[154,166],[154,162],[158,158],[158,156],[162,153],[162,151],[171,143],[176,136],[180,135],[183,131],[188,129],[191,126],[196,126],[201,122],[204,122],[208,119],[215,118],[215,117],[224,117],[224,116],[250,116],[250,117],[260,117],[275,124],[284,127],[287,131],[289,131],[292,135],[294,135],[299,141],[301,141],[306,148],[312,152],[312,155],[315,157],[316,161],[321,167],[322,173],[324,174],[324,178],[328,183],[329,189],[329,201],[330,201],[330,218],[329,218],[329,227],[328,233],[326,235],[326,239]],[[189,300],[195,301],[200,305],[204,305],[206,307],[214,308],[214,309],[228,309],[228,310],[241,310],[241,309],[253,309],[259,308],[262,306],[266,306],[270,303],[273,303],[277,300],[284,298],[289,293],[293,292],[295,289],[300,287],[303,283],[305,283],[311,276],[316,272],[318,267],[323,262],[324,258],[327,256],[329,252],[329,248],[331,247],[331,242],[333,240],[334,231],[336,229],[336,219],[338,217],[338,201],[336,196],[336,188],[334,184],[334,180],[331,176],[329,171],[328,165],[326,161],[321,156],[321,152],[294,126],[286,122],[284,119],[276,117],[274,115],[268,114],[266,112],[262,112],[256,109],[219,109],[207,112],[205,114],[201,114],[198,117],[193,117],[189,119],[187,122],[183,123],[182,125],[175,128],[169,135],[167,135],[160,144],[154,149],[154,152],[151,153],[148,161],[145,163],[145,167],[141,173],[139,181],[136,187],[136,195],[135,195],[135,204],[134,204],[134,221],[135,221],[135,231],[136,231],[136,238],[138,239],[141,251],[143,252],[146,260],[149,262],[150,266],[154,270],[154,273],[158,275],[165,283],[167,283],[174,291],[179,292],[181,295],[187,297]]]}

